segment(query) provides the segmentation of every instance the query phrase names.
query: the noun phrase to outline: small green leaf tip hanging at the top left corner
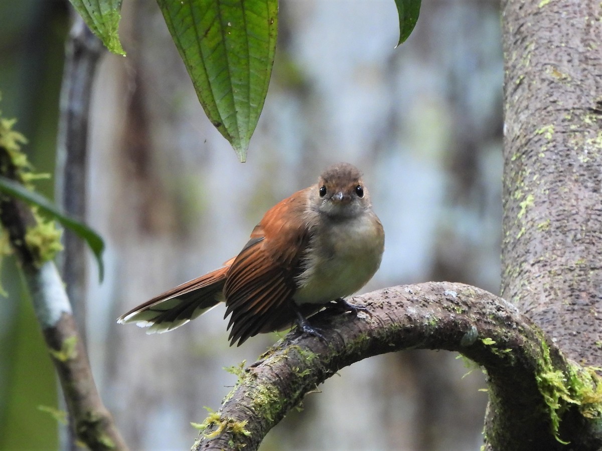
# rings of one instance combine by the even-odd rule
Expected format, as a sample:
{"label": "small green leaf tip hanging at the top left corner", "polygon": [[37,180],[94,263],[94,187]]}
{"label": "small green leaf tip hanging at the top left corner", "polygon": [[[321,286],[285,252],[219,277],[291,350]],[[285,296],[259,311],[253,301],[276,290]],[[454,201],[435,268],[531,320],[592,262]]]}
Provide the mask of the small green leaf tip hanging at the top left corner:
{"label": "small green leaf tip hanging at the top left corner", "polygon": [[119,20],[122,0],[69,0],[92,32],[105,47],[117,55],[125,56],[119,41]]}

